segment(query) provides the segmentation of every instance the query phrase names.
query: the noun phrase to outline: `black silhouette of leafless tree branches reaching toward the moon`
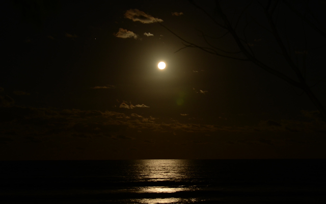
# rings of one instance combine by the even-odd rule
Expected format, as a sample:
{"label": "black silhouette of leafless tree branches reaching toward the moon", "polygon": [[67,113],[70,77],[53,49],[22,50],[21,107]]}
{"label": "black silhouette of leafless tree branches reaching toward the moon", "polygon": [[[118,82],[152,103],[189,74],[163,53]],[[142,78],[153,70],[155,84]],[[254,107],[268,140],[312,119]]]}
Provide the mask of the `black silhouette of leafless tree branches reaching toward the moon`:
{"label": "black silhouette of leafless tree branches reaching toward the moon", "polygon": [[[293,51],[295,49],[293,49],[293,47],[291,47],[290,45],[290,39],[288,37],[288,29],[287,29],[287,19],[285,19],[285,28],[283,29],[285,31],[285,35],[282,36],[280,29],[278,27],[276,27],[276,23],[278,20],[278,17],[281,15],[279,15],[279,12],[281,10],[281,6],[283,4],[280,3],[279,0],[276,1],[272,1],[269,0],[267,2],[267,4],[265,4],[265,6],[263,6],[259,1],[257,1],[257,4],[259,4],[264,13],[265,13],[265,17],[266,17],[266,23],[269,24],[269,28],[263,26],[259,21],[260,19],[256,20],[255,17],[253,17],[252,15],[250,15],[251,19],[253,22],[255,22],[258,25],[258,28],[261,27],[265,30],[267,30],[270,34],[272,34],[271,37],[272,39],[274,39],[277,42],[277,46],[278,49],[280,49],[280,55],[282,56],[282,58],[284,58],[287,67],[289,67],[292,71],[294,71],[295,75],[296,75],[296,80],[292,79],[291,75],[287,75],[282,73],[281,71],[278,71],[277,69],[274,69],[270,66],[268,66],[266,63],[266,61],[264,61],[264,58],[258,59],[255,56],[255,53],[252,49],[252,47],[249,45],[248,42],[248,38],[247,38],[247,34],[248,32],[246,32],[246,30],[249,28],[249,25],[251,24],[250,21],[248,21],[248,14],[246,14],[245,16],[245,22],[246,25],[244,27],[241,27],[242,29],[242,33],[238,32],[236,30],[237,26],[240,22],[240,18],[242,18],[242,16],[244,15],[244,12],[246,12],[246,10],[248,10],[248,8],[251,6],[252,2],[250,2],[249,5],[246,6],[246,8],[244,8],[241,12],[240,12],[240,16],[237,19],[237,22],[235,23],[235,26],[233,27],[233,18],[236,14],[233,14],[232,20],[230,21],[229,18],[226,16],[226,14],[223,12],[222,7],[220,5],[220,0],[215,0],[215,13],[218,15],[218,19],[219,21],[215,20],[215,16],[210,15],[207,11],[205,11],[205,9],[203,9],[202,7],[198,6],[197,4],[194,3],[194,1],[190,1],[196,8],[198,8],[199,10],[201,10],[202,12],[204,12],[204,14],[206,16],[208,16],[215,25],[218,25],[218,27],[220,29],[224,29],[227,32],[225,34],[222,35],[222,37],[226,36],[227,34],[230,34],[233,38],[233,40],[235,41],[235,44],[237,45],[237,47],[239,48],[239,52],[229,52],[227,50],[224,50],[218,46],[214,46],[207,38],[212,38],[212,39],[221,39],[222,37],[210,37],[205,35],[203,32],[202,33],[202,38],[205,40],[205,43],[209,46],[209,47],[205,47],[205,46],[200,46],[197,45],[195,43],[186,41],[184,38],[180,37],[179,35],[175,34],[174,32],[172,32],[170,29],[168,29],[167,27],[165,27],[164,25],[161,25],[166,28],[168,31],[170,31],[173,35],[175,35],[176,37],[178,37],[179,39],[181,39],[183,41],[183,45],[184,47],[180,48],[184,49],[184,48],[188,48],[188,47],[196,47],[199,48],[203,51],[205,51],[206,53],[210,53],[219,57],[225,57],[225,58],[229,58],[229,59],[236,59],[236,60],[241,60],[241,61],[251,61],[252,63],[256,64],[258,67],[262,68],[263,70],[267,71],[268,73],[271,73],[273,75],[275,75],[276,77],[284,80],[285,82],[287,82],[288,84],[300,88],[302,89],[303,92],[305,92],[307,94],[307,96],[310,98],[310,100],[312,101],[312,103],[316,106],[316,108],[319,110],[321,117],[323,118],[324,121],[326,121],[326,109],[324,108],[324,106],[320,103],[320,101],[317,99],[317,97],[314,95],[314,93],[312,92],[311,88],[316,86],[320,81],[324,80],[325,78],[323,78],[322,80],[320,80],[319,82],[317,82],[316,84],[314,84],[313,86],[308,86],[308,84],[306,83],[306,71],[307,71],[307,56],[306,53],[303,53],[303,58],[302,58],[302,70],[301,70],[301,61],[298,60],[298,53],[294,53]],[[319,34],[322,34],[322,36],[326,37],[326,33],[321,31],[320,29],[317,30],[318,28],[310,21],[308,20],[306,15],[302,15],[300,12],[296,11],[295,9],[293,9],[293,7],[291,7],[291,5],[287,2],[287,0],[282,0],[282,2],[284,4],[286,4],[286,8],[289,7],[296,15],[298,15],[299,17],[302,18],[303,21],[307,22],[308,25],[310,27],[313,27],[313,29],[315,29]],[[283,8],[283,7],[282,7]],[[310,11],[309,8],[308,12]],[[283,11],[283,10],[282,10]],[[276,16],[275,16],[276,13]],[[314,17],[313,14],[310,14]],[[314,17],[315,18],[315,17]],[[302,22],[303,22],[302,21]],[[304,41],[303,41],[303,46],[304,46],[304,52],[306,52],[307,47],[308,47],[308,42],[307,42],[307,35],[305,32],[305,27],[303,25],[303,30],[304,30]],[[316,29],[317,28],[317,29]],[[283,31],[283,32],[284,32]],[[239,34],[241,33],[241,34]],[[242,39],[242,36],[244,39]],[[269,36],[269,35],[268,35]],[[285,41],[284,41],[285,38]],[[288,46],[288,48],[286,48],[286,46]],[[317,48],[321,48],[325,45],[322,45],[320,47]],[[295,48],[295,47],[294,47]],[[317,48],[310,48],[310,49],[317,49]],[[275,50],[275,52],[278,52],[278,49]],[[310,50],[309,49],[309,50]],[[179,52],[179,50],[177,50],[177,52]],[[222,55],[221,53],[226,53],[226,54],[230,54],[233,56],[236,56],[237,54],[242,53],[246,58],[237,58],[237,57],[233,57],[230,55]],[[294,62],[296,60],[296,63]],[[266,63],[265,63],[266,62]]]}

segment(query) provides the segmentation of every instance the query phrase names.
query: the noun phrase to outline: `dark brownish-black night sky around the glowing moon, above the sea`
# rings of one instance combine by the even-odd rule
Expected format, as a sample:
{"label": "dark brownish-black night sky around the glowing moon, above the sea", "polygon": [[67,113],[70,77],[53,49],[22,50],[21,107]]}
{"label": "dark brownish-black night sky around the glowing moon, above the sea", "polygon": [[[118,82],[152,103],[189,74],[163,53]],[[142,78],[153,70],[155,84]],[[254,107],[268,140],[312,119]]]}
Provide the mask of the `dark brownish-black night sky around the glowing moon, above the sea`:
{"label": "dark brownish-black night sky around the glowing moon, above the sea", "polygon": [[[195,2],[222,22],[214,1]],[[267,1],[249,2],[221,7],[255,57],[298,81],[268,31]],[[324,1],[289,2],[326,30]],[[0,160],[326,158],[326,124],[301,89],[251,61],[183,48],[173,33],[239,51],[189,1],[2,4]],[[326,37],[282,2],[275,13],[287,52],[326,106]]]}

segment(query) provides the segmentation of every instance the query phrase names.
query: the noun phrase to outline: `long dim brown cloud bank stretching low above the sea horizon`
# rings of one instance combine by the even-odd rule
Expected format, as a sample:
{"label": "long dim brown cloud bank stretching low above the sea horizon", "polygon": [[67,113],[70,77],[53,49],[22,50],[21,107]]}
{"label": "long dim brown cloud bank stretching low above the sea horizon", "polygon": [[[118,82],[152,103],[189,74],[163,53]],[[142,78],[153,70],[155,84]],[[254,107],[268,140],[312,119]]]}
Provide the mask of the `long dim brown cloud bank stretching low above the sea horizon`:
{"label": "long dim brown cloud bank stretching low above the sea horizon", "polygon": [[[130,108],[130,105],[125,103]],[[135,107],[132,106],[131,107]],[[185,114],[184,114],[185,115]],[[241,133],[241,135],[257,135],[270,133],[274,137],[278,135],[293,135],[298,133],[310,134],[314,137],[326,134],[325,123],[316,121],[292,121],[282,120],[262,121],[253,126],[220,126],[213,124],[161,122],[160,120],[142,114],[124,113],[114,111],[58,110],[52,108],[32,107],[2,107],[0,108],[0,135],[2,138],[24,138],[28,142],[43,142],[46,138],[65,135],[75,138],[108,137],[116,140],[130,140],[125,136],[129,131],[169,133],[182,135],[184,133],[211,135],[221,133]],[[113,135],[113,136],[112,136]],[[286,138],[256,138],[253,140],[239,140],[237,144],[287,144],[292,140]],[[289,137],[287,137],[289,138]],[[291,139],[291,138],[290,138]],[[293,138],[292,138],[293,139]],[[294,138],[295,139],[295,138]],[[5,141],[6,140],[6,141]],[[284,141],[283,141],[284,140]],[[2,142],[9,144],[12,140],[4,139]],[[197,139],[196,141],[201,141]],[[235,141],[233,141],[235,142]]]}

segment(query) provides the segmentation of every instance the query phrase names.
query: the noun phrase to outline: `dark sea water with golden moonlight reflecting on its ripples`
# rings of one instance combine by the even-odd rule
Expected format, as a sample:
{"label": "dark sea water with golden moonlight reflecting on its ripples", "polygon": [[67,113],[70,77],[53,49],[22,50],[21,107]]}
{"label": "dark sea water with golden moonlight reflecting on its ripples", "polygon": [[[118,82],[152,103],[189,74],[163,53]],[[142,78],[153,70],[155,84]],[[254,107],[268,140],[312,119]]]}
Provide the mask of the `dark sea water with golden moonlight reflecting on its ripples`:
{"label": "dark sea water with golden moonlight reflecting on its ripples", "polygon": [[0,203],[326,203],[326,160],[0,162]]}

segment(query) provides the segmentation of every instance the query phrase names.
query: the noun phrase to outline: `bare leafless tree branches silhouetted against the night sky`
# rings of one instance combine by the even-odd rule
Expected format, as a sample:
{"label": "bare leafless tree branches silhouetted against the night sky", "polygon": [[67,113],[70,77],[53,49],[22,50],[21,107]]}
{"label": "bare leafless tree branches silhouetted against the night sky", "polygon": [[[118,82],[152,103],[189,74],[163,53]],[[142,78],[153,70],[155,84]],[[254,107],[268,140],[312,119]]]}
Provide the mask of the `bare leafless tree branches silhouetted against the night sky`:
{"label": "bare leafless tree branches silhouetted against the night sky", "polygon": [[[208,19],[212,21],[212,23],[220,30],[225,30],[225,33],[222,36],[217,36],[217,37],[211,37],[208,35],[205,35],[202,31],[202,38],[204,39],[205,43],[208,45],[207,46],[202,46],[195,44],[193,42],[187,41],[185,38],[179,36],[175,32],[171,31],[169,28],[167,28],[165,25],[160,23],[162,27],[167,29],[170,33],[175,35],[177,38],[183,41],[184,47],[180,48],[177,50],[179,52],[181,49],[184,48],[189,48],[189,47],[195,47],[203,50],[206,53],[216,55],[218,57],[225,57],[229,59],[234,59],[234,60],[241,60],[241,61],[250,61],[254,64],[256,64],[258,67],[261,69],[269,72],[270,74],[275,75],[277,78],[280,78],[287,82],[288,84],[297,87],[301,89],[306,95],[309,97],[309,99],[312,101],[312,103],[315,105],[315,107],[319,110],[320,117],[322,120],[326,121],[326,110],[324,108],[324,105],[320,103],[320,100],[315,96],[313,91],[311,90],[312,87],[316,86],[319,82],[316,84],[309,86],[307,84],[307,79],[306,79],[306,72],[307,72],[307,49],[308,49],[308,42],[307,42],[307,34],[305,29],[304,23],[309,25],[311,28],[311,31],[315,31],[315,33],[319,34],[318,37],[324,38],[326,40],[326,33],[323,31],[323,27],[320,24],[320,21],[316,20],[317,23],[314,23],[310,20],[310,18],[307,18],[306,15],[303,15],[301,12],[298,12],[295,10],[293,5],[291,5],[288,1],[286,0],[277,0],[277,1],[263,1],[261,3],[260,1],[250,1],[249,4],[244,7],[244,9],[241,10],[240,15],[238,16],[238,19],[235,19],[235,25],[232,26],[232,21],[234,20],[235,13],[233,13],[232,20],[229,20],[227,17],[226,12],[224,12],[222,6],[220,5],[219,0],[215,0],[215,9],[213,14],[210,14],[207,10],[199,6],[198,4],[195,3],[195,1],[189,1],[194,7],[199,9],[201,12],[203,12]],[[254,2],[256,4],[254,5]],[[308,2],[306,1],[306,4],[308,5]],[[260,19],[258,20],[256,17],[254,17],[252,14],[254,13],[246,13],[247,10],[249,10],[251,7],[254,7],[257,10],[257,6],[261,8],[261,11],[264,13],[265,21],[267,22],[267,25],[264,25],[261,23]],[[280,10],[282,9],[288,9],[288,13],[294,14],[298,20],[300,20],[302,23],[302,29],[303,29],[303,34],[304,34],[304,39],[302,41],[304,42],[304,49],[305,51],[303,52],[303,57],[302,57],[302,62],[301,64],[298,61],[298,55],[295,51],[297,48],[295,45],[290,43],[290,40],[288,38],[287,30],[282,30],[279,28],[279,23],[282,23],[281,21],[281,14]],[[311,14],[312,19],[316,19],[316,16],[311,12],[310,8],[307,8],[308,13]],[[251,22],[255,22],[256,25],[258,25],[259,28],[263,28],[263,30],[266,30],[269,34],[271,34],[271,37],[268,38],[268,40],[274,40],[276,41],[276,46],[277,48],[275,51],[277,53],[280,53],[282,56],[283,60],[286,62],[286,67],[290,68],[292,70],[292,73],[295,75],[293,76],[291,74],[285,74],[276,68],[271,67],[268,65],[268,62],[264,58],[259,58],[255,55],[255,50],[251,47],[251,43],[248,41],[248,36],[247,36],[247,29],[249,27],[249,24],[251,22],[248,21],[248,17],[252,19]],[[261,17],[261,16],[259,16]],[[239,23],[240,20],[245,21],[244,27],[239,29]],[[286,19],[283,19],[284,23],[286,24]],[[278,22],[278,23],[277,23]],[[242,30],[241,30],[242,29]],[[238,31],[240,30],[240,31]],[[284,37],[285,34],[285,37]],[[211,39],[221,39],[225,37],[226,35],[230,35],[232,39],[234,40],[235,44],[237,45],[238,50],[236,52],[230,52],[225,49],[223,49],[220,46],[213,45],[212,43],[209,42],[207,37]],[[242,39],[244,38],[244,39]],[[284,39],[285,38],[285,39]],[[319,46],[319,45],[318,45]],[[278,51],[280,50],[280,52]],[[257,52],[257,51],[256,51]],[[242,57],[239,58],[239,54],[242,54]],[[295,55],[295,57],[293,57]],[[301,68],[300,68],[301,67]]]}

